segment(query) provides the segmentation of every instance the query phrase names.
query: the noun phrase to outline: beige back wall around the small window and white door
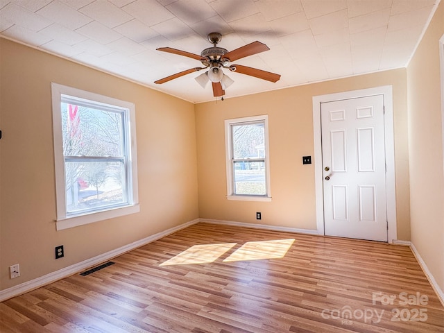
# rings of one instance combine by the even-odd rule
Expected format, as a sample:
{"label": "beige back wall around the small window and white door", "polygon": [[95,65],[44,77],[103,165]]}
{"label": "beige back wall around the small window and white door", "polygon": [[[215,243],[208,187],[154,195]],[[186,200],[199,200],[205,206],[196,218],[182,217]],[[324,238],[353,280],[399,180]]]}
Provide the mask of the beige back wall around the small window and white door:
{"label": "beige back wall around the small window and white door", "polygon": [[[314,156],[312,97],[382,85],[393,86],[398,239],[409,240],[405,69],[196,105],[200,217],[257,223],[255,212],[262,212],[263,224],[316,229],[314,166],[302,165],[302,156]],[[224,120],[257,114],[268,114],[273,199],[227,200]]]}

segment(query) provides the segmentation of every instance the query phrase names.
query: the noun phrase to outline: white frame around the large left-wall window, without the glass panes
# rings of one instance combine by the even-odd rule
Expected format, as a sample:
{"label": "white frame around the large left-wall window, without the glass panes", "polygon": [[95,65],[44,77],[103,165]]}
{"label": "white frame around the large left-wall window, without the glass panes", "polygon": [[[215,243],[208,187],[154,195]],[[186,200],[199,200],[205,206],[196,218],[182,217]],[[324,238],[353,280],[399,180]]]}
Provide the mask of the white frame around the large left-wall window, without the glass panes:
{"label": "white frame around the large left-wall window, without the glass panes", "polygon": [[[53,103],[53,141],[54,141],[54,162],[56,171],[56,204],[57,204],[57,230],[74,228],[78,225],[85,225],[112,219],[114,217],[133,214],[139,212],[139,196],[137,187],[137,146],[135,128],[135,105],[127,101],[113,99],[112,97],[86,92],[84,90],[51,83],[52,103]],[[120,108],[124,113],[124,123],[126,132],[127,153],[127,187],[128,203],[119,207],[105,207],[103,210],[95,212],[81,212],[79,214],[67,214],[66,190],[65,190],[65,157],[63,154],[62,142],[62,95],[72,99],[82,99],[96,103],[96,105],[110,105]]]}

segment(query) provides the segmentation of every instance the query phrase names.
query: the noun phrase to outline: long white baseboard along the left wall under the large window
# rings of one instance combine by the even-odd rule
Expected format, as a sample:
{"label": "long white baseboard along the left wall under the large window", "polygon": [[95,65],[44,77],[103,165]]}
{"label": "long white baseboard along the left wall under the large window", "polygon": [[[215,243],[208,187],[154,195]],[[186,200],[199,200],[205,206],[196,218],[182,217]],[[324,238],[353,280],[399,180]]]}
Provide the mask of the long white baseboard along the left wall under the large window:
{"label": "long white baseboard along the left wall under the large window", "polygon": [[9,298],[15,296],[22,295],[22,293],[27,293],[28,291],[43,287],[46,284],[50,284],[52,282],[56,282],[63,278],[67,278],[70,275],[84,271],[86,268],[96,266],[97,264],[101,264],[102,262],[105,262],[109,259],[112,259],[119,255],[123,255],[123,253],[127,253],[130,250],[134,250],[135,248],[139,248],[140,246],[144,246],[148,243],[151,243],[152,241],[156,241],[157,239],[161,239],[162,237],[168,236],[173,232],[187,228],[189,227],[189,225],[196,224],[199,221],[200,221],[199,219],[196,219],[193,221],[182,223],[181,225],[169,228],[168,230],[164,230],[162,232],[157,232],[157,234],[153,234],[144,239],[140,239],[139,241],[135,241],[126,246],[122,246],[121,248],[110,250],[107,253],[103,253],[102,255],[97,255],[96,257],[84,260],[83,262],[78,262],[77,264],[67,266],[65,268],[59,269],[58,271],[43,275],[40,278],[36,278],[34,280],[27,281],[22,284],[17,284],[17,286],[4,289],[0,291],[0,302],[3,302],[3,300],[8,300]]}

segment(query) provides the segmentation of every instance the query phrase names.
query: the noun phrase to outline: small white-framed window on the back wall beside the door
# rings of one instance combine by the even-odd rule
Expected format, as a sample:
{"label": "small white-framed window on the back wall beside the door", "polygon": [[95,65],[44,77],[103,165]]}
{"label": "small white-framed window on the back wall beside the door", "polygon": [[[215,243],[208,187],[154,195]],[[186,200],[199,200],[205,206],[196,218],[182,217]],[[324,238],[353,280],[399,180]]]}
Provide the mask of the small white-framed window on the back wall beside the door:
{"label": "small white-framed window on the back wall beside the door", "polygon": [[268,116],[225,121],[227,189],[230,200],[271,200]]}

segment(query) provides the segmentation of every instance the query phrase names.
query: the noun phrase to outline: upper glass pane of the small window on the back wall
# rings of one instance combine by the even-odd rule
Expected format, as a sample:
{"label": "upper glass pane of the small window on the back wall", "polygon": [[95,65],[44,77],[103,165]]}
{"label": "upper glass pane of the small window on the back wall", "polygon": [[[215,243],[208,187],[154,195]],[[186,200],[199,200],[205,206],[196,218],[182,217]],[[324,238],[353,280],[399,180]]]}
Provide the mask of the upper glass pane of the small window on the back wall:
{"label": "upper glass pane of the small window on the back wall", "polygon": [[264,122],[233,125],[232,137],[234,160],[265,156]]}

